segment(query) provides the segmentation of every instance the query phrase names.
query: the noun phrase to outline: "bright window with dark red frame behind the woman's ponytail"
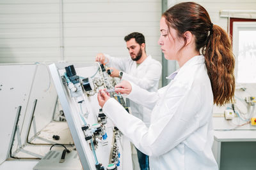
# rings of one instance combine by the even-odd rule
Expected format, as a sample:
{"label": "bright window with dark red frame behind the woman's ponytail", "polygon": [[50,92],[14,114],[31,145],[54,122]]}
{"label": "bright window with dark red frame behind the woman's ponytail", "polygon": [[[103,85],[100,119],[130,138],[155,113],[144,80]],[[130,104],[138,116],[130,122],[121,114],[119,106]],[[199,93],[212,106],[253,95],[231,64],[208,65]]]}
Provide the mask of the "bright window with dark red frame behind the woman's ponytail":
{"label": "bright window with dark red frame behind the woman's ponytail", "polygon": [[256,83],[256,20],[230,19],[230,34],[236,56],[237,83]]}

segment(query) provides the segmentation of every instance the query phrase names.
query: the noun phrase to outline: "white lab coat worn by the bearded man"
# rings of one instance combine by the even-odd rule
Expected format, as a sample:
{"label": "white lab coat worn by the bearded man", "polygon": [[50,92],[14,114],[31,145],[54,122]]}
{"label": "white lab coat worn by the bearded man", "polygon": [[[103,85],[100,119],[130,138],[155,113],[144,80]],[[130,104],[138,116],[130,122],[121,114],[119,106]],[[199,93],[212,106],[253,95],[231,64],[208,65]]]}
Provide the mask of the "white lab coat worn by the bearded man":
{"label": "white lab coat worn by the bearded man", "polygon": [[[159,61],[152,59],[152,57],[148,55],[137,67],[136,61],[132,60],[131,57],[118,58],[111,57],[108,54],[104,55],[107,58],[106,61],[108,61],[107,66],[115,67],[123,71],[122,80],[132,81],[132,83],[135,83],[149,92],[157,91],[162,71],[162,66]],[[131,106],[132,115],[143,120],[146,125],[149,125],[151,110],[133,101],[129,101],[129,104]]]}

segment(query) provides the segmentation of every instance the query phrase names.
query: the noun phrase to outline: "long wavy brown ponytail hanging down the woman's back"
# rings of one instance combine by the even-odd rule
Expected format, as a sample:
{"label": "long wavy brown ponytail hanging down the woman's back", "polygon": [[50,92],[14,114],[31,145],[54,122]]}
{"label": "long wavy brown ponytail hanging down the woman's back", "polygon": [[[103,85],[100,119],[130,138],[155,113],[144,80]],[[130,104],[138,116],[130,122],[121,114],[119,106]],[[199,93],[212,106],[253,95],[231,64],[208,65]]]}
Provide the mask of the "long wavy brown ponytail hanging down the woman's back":
{"label": "long wavy brown ponytail hanging down the woman's back", "polygon": [[234,100],[235,92],[235,59],[227,32],[213,25],[202,53],[211,80],[214,104],[221,106],[230,103]]}

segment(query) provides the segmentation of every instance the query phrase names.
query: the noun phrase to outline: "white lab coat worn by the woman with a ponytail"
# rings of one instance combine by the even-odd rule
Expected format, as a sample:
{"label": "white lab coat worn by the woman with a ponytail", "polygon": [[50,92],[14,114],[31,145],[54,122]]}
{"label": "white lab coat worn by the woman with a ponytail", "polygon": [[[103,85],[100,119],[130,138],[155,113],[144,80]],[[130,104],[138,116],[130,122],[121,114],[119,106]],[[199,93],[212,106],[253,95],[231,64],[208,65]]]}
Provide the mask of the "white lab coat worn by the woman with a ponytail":
{"label": "white lab coat worn by the woman with a ponytail", "polygon": [[114,99],[106,101],[103,111],[136,148],[149,155],[150,169],[218,169],[211,150],[213,96],[204,56],[188,60],[158,92],[132,84],[127,97],[153,109],[149,127]]}

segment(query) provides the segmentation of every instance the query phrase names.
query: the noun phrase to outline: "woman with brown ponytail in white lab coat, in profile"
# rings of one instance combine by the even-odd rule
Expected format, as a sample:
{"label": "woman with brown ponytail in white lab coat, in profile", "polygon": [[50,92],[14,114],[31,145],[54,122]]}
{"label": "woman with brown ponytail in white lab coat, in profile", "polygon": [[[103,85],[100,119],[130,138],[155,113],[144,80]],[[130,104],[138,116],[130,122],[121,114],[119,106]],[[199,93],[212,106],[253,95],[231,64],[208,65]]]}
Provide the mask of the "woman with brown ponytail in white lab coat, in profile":
{"label": "woman with brown ponytail in white lab coat, in profile", "polygon": [[212,107],[234,97],[230,39],[196,3],[179,3],[164,12],[160,32],[165,59],[177,60],[180,66],[168,76],[172,81],[158,92],[128,81],[115,87],[152,110],[150,127],[127,114],[108,93],[99,93],[99,105],[136,148],[149,155],[150,169],[217,170],[211,151]]}

